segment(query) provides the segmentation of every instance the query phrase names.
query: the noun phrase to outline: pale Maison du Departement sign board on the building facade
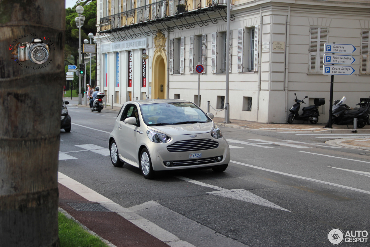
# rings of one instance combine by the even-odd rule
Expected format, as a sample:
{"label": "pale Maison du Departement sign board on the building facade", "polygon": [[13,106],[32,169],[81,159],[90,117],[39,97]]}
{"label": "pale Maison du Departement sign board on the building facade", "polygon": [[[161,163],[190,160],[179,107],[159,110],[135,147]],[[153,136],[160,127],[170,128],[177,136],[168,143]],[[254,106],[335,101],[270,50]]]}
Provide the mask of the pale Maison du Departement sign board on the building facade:
{"label": "pale Maison du Departement sign board on the building facade", "polygon": [[121,50],[145,49],[150,47],[151,43],[148,43],[148,38],[142,38],[101,45],[100,52],[118,52]]}

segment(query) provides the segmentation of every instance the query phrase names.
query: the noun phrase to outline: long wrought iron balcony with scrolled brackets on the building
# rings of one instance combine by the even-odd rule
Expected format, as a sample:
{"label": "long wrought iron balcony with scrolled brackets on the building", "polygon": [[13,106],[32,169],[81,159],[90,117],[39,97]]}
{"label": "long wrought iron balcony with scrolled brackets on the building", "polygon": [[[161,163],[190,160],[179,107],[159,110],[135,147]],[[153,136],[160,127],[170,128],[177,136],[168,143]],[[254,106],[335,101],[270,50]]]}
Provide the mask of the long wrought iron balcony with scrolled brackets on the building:
{"label": "long wrought iron balcony with scrolled brackets on the building", "polygon": [[163,0],[101,18],[98,34],[114,42],[208,26],[221,19],[227,20],[226,0]]}

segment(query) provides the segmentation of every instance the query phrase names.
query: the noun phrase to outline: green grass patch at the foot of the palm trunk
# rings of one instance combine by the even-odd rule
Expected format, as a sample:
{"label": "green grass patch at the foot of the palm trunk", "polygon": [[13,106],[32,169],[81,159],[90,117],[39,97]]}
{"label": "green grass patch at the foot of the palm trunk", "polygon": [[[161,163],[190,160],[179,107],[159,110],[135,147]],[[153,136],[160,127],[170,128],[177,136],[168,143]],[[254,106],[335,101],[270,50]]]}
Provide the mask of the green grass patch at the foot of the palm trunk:
{"label": "green grass patch at the foot of the palm trunk", "polygon": [[74,220],[58,212],[60,247],[108,247],[100,238],[85,231]]}

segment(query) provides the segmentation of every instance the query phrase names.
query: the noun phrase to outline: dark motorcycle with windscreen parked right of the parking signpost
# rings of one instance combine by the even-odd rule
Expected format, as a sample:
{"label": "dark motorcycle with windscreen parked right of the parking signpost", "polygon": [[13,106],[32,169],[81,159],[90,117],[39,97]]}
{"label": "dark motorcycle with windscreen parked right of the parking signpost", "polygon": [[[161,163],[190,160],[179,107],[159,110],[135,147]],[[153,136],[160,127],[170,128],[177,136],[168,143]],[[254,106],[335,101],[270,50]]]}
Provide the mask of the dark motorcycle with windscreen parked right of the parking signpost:
{"label": "dark motorcycle with windscreen parked right of the parking signpost", "polygon": [[[363,128],[366,125],[367,118],[369,117],[369,106],[364,104],[360,108],[351,109],[349,106],[344,104],[344,101],[346,101],[346,97],[344,96],[341,100],[334,101],[332,123],[335,123],[336,125],[347,125],[348,127],[349,124],[353,124],[353,119],[357,118],[357,128]],[[360,105],[362,104],[360,103]]]}

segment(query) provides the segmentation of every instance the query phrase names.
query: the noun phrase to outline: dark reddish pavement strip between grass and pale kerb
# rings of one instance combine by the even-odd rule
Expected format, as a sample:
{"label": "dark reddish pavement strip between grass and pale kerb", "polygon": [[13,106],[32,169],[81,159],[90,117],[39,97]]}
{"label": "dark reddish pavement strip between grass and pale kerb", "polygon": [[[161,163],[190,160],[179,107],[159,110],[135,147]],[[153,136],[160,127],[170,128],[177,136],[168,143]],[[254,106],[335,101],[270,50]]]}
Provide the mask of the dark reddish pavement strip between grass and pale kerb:
{"label": "dark reddish pavement strip between grass and pale kerb", "polygon": [[146,231],[114,212],[78,211],[68,202],[96,203],[86,200],[64,185],[58,184],[59,207],[94,233],[117,247],[169,247]]}

